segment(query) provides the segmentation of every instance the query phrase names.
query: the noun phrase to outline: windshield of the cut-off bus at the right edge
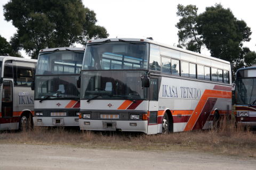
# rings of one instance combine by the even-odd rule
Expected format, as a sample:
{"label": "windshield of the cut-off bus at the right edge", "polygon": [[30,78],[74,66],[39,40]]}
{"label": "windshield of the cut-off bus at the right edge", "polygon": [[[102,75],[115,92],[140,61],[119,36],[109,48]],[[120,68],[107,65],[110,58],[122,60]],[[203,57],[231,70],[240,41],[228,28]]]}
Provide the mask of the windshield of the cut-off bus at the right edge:
{"label": "windshield of the cut-off bus at the right edge", "polygon": [[235,96],[236,104],[250,104],[254,102],[256,100],[256,78],[237,79]]}

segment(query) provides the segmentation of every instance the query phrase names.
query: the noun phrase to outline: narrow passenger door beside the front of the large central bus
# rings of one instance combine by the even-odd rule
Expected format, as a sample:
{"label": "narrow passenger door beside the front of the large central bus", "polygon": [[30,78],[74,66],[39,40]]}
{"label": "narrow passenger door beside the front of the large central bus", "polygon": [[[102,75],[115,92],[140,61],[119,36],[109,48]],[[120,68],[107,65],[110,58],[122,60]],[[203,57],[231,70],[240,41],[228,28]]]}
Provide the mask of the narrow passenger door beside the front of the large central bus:
{"label": "narrow passenger door beside the front of the large central bus", "polygon": [[[149,87],[149,118],[148,118],[148,134],[156,134],[158,132],[157,114],[158,114],[158,77],[150,77]],[[162,125],[162,124],[161,124]],[[161,126],[162,128],[162,126]]]}

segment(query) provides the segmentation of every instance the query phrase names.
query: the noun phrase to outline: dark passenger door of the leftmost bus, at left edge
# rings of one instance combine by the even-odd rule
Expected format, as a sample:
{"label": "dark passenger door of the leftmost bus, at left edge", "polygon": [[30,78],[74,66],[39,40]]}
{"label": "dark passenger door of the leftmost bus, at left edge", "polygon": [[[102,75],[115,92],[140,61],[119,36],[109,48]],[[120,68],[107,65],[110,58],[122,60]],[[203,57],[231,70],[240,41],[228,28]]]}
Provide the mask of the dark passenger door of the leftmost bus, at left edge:
{"label": "dark passenger door of the leftmost bus, at left edge", "polygon": [[[1,118],[1,130],[15,129],[17,123],[12,123],[13,117],[13,86],[11,80],[3,81],[2,89],[2,118]],[[15,126],[15,127],[14,127]]]}

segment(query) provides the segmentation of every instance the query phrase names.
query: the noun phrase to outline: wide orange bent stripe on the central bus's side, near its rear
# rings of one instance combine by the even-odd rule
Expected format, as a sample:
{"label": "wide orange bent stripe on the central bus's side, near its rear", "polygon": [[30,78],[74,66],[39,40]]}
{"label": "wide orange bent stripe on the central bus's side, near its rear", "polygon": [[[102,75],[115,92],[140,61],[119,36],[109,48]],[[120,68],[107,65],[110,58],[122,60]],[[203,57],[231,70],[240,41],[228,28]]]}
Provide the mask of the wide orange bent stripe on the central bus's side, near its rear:
{"label": "wide orange bent stripe on the central bus's side, near its rear", "polygon": [[194,127],[208,98],[231,99],[231,92],[205,90],[201,97],[201,100],[199,100],[199,102],[197,103],[196,109],[193,111],[193,114],[190,116],[184,131],[190,131]]}

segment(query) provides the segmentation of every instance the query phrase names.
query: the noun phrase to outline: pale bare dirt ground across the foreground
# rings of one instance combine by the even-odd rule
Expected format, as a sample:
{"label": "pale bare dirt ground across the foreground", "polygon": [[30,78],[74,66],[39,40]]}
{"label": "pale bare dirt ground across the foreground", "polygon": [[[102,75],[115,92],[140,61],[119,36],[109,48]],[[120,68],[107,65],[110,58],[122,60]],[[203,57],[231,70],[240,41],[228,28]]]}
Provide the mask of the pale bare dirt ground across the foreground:
{"label": "pale bare dirt ground across the foreground", "polygon": [[255,158],[209,153],[1,144],[0,169],[255,169]]}

